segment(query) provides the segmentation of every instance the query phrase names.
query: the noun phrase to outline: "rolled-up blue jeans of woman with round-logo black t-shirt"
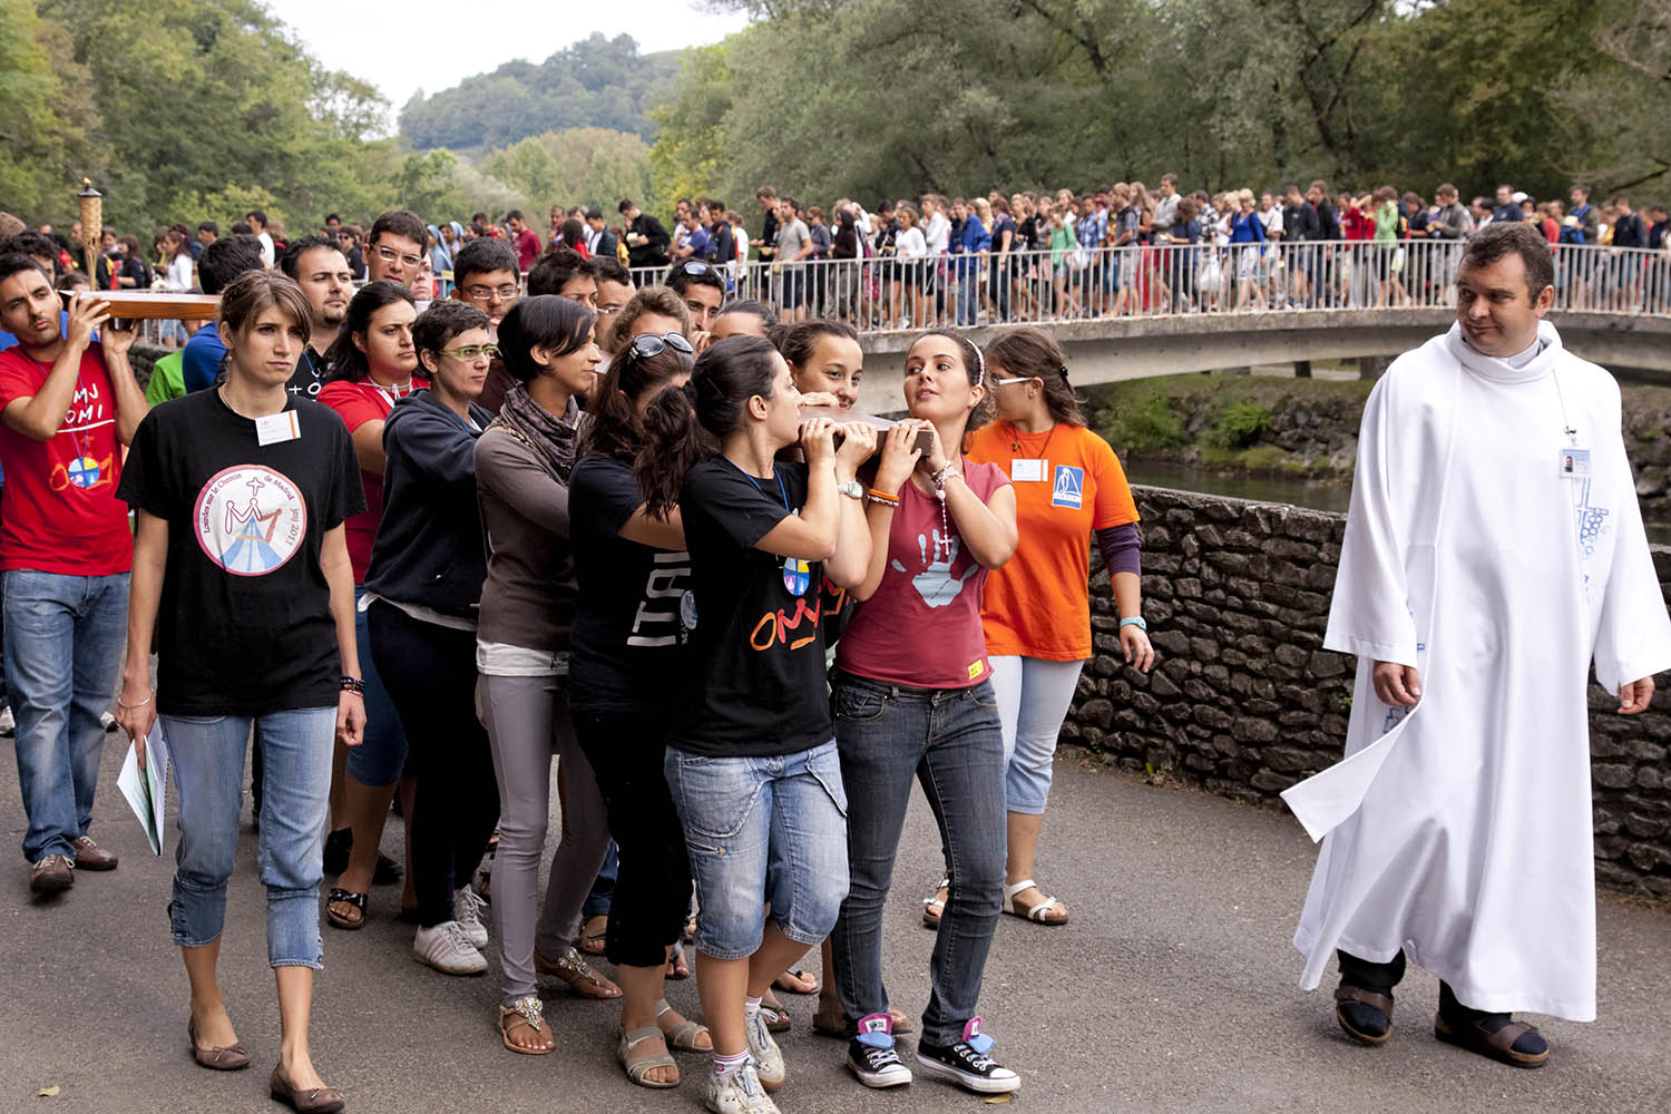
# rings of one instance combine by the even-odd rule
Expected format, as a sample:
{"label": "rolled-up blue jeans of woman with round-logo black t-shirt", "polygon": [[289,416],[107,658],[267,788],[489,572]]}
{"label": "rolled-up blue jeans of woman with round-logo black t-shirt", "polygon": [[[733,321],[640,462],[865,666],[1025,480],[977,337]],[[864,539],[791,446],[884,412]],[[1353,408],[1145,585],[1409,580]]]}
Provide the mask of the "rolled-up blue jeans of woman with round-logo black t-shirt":
{"label": "rolled-up blue jeans of woman with round-logo black t-shirt", "polygon": [[259,717],[162,717],[162,738],[180,793],[169,925],[180,947],[216,940],[226,927],[226,884],[237,855],[249,728],[266,763],[257,860],[267,887],[267,964],[312,967],[319,942],[319,879],[331,797],[336,708]]}

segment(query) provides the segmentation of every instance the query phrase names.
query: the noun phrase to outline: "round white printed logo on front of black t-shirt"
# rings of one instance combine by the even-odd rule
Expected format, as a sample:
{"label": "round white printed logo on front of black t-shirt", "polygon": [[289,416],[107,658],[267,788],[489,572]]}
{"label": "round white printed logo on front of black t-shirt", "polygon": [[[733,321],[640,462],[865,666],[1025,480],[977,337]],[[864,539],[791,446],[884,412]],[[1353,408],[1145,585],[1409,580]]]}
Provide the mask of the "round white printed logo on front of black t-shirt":
{"label": "round white printed logo on front of black t-shirt", "polygon": [[307,503],[282,473],[234,464],[204,484],[192,513],[197,544],[234,576],[266,576],[307,536]]}

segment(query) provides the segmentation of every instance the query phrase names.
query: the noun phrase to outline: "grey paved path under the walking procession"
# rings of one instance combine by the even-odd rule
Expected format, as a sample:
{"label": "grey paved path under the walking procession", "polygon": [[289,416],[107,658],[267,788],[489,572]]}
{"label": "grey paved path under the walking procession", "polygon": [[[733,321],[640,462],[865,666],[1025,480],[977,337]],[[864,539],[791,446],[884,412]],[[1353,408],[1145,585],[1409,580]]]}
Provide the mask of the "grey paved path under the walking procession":
{"label": "grey paved path under the walking procession", "polygon": [[[50,904],[27,894],[22,808],[10,755],[0,762],[0,1112],[269,1111],[277,1051],[266,970],[254,838],[232,880],[222,985],[254,1067],[214,1074],[185,1052],[185,977],[169,944],[172,858],[152,857],[115,773],[125,745],[107,737],[95,833],[122,853],[115,873],[84,873]],[[556,830],[553,820],[553,830]],[[399,823],[391,822],[386,848]],[[172,852],[169,852],[172,853]],[[921,1010],[932,937],[917,900],[939,852],[921,795],[887,910],[896,1004]],[[1599,900],[1601,1020],[1539,1020],[1554,1056],[1516,1071],[1430,1036],[1437,982],[1412,969],[1390,1044],[1364,1049],[1335,1027],[1328,989],[1303,994],[1290,949],[1313,848],[1287,815],[1143,785],[1058,758],[1039,879],[1073,907],[1044,929],[1004,917],[981,1009],[1001,1059],[1024,1079],[1016,1107],[1051,1111],[1668,1111],[1671,1109],[1671,914]],[[356,934],[324,930],[314,1059],[349,1109],[700,1109],[698,1056],[677,1091],[630,1086],[615,1064],[615,1009],[551,994],[558,1052],[513,1056],[493,1030],[495,984],[449,979],[411,960],[394,924],[396,889],[373,895]],[[1537,925],[1526,925],[1537,932]],[[695,1009],[695,984],[670,985]],[[785,1114],[976,1111],[976,1096],[919,1081],[871,1092],[841,1067],[837,1042],[810,1034],[810,999],[789,997]],[[909,1042],[909,1039],[907,1039]],[[55,1097],[35,1097],[42,1087]]]}

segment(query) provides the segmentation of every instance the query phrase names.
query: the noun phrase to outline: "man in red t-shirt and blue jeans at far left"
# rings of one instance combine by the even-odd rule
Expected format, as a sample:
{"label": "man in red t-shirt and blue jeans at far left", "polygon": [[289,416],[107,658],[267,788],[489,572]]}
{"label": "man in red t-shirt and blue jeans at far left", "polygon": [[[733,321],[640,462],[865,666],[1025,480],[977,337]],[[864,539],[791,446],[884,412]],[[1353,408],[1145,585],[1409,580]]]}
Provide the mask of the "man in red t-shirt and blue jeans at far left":
{"label": "man in red t-shirt and blue jeans at far left", "polygon": [[67,327],[60,309],[40,264],[0,256],[0,327],[18,341],[0,352],[3,658],[35,894],[69,889],[74,867],[117,865],[87,827],[134,565],[115,488],[122,446],[150,409],[127,362],[134,332],[107,327],[102,342],[92,339],[109,304],[74,299]]}

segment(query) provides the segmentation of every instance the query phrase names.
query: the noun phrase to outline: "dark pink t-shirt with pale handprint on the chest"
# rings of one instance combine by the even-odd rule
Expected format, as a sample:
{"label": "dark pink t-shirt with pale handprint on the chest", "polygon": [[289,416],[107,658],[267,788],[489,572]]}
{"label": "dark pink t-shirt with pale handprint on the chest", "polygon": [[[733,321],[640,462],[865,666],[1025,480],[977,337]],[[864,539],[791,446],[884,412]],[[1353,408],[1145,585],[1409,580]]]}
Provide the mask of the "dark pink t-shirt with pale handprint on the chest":
{"label": "dark pink t-shirt with pale handprint on the chest", "polygon": [[[986,503],[1009,483],[996,464],[964,461],[969,489]],[[836,666],[872,681],[911,688],[969,688],[988,680],[981,630],[986,570],[964,549],[957,523],[916,484],[899,489],[887,534],[887,570],[836,645]]]}

